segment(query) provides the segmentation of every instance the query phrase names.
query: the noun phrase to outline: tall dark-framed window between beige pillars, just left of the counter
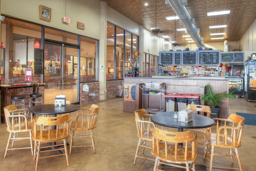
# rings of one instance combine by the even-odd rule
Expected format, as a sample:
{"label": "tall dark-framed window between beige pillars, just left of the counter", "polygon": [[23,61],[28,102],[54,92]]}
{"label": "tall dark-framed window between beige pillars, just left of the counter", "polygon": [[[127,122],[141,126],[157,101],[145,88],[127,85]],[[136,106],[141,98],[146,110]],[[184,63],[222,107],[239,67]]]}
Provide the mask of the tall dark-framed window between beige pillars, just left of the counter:
{"label": "tall dark-framed window between beige pillars, just left of the counter", "polygon": [[136,63],[139,62],[132,55],[136,50],[138,50],[137,35],[107,23],[106,79],[123,79],[124,76],[130,77],[132,68],[136,67]]}

